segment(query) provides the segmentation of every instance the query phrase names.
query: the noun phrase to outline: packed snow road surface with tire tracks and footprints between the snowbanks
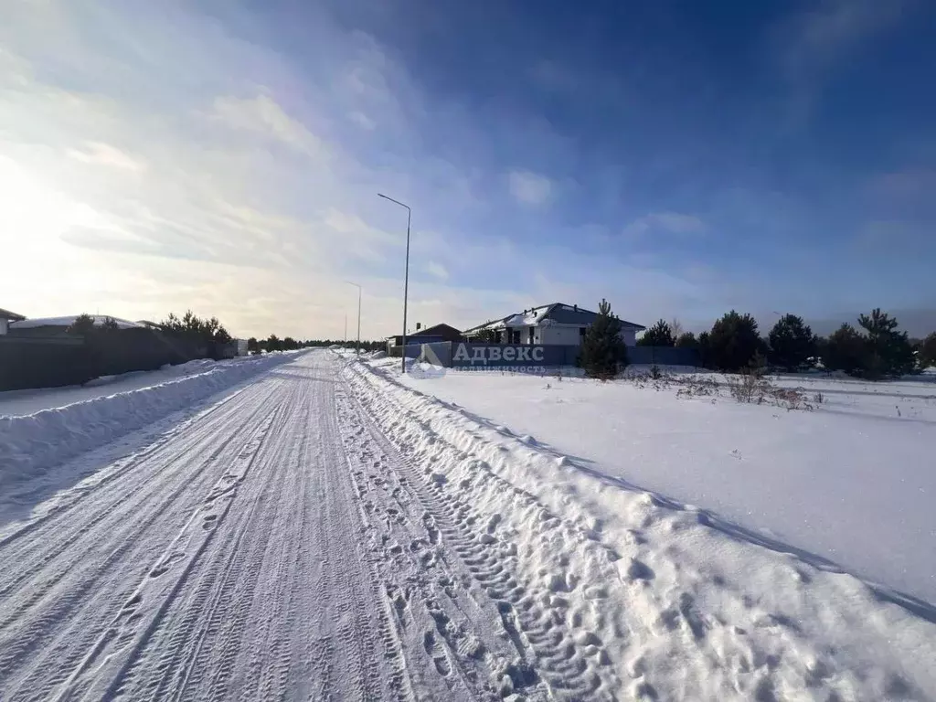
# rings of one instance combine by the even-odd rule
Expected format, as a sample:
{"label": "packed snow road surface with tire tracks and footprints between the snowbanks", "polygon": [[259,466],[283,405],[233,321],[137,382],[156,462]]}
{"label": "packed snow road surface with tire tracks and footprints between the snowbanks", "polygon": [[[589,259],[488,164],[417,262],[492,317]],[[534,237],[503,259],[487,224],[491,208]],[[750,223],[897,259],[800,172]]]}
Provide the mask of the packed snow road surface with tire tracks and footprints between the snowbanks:
{"label": "packed snow road surface with tire tracks and footprints between the snowbanks", "polygon": [[[500,568],[412,487],[337,368],[271,371],[0,532],[0,699],[545,697],[492,629],[509,605],[462,589]],[[557,685],[596,689],[544,651]]]}

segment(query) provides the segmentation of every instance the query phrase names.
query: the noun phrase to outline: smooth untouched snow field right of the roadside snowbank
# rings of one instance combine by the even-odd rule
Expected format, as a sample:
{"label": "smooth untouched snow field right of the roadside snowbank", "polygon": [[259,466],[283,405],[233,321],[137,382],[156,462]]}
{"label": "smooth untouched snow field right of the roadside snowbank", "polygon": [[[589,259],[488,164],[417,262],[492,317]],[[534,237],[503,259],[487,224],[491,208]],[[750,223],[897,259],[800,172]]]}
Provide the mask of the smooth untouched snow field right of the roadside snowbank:
{"label": "smooth untouched snow field right of the roadside snowbank", "polygon": [[724,395],[679,397],[679,384],[566,373],[449,372],[404,382],[577,456],[606,481],[710,510],[936,603],[931,378],[781,377],[778,385],[804,388],[815,407],[788,412]]}

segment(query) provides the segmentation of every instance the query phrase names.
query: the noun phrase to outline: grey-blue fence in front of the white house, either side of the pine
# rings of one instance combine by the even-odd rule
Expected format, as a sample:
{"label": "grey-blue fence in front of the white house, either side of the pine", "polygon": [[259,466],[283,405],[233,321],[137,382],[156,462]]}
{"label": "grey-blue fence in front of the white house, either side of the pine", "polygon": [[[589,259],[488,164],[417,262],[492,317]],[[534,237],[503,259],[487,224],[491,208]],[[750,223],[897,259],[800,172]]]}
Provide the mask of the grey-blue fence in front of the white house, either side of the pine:
{"label": "grey-blue fence in front of the white house, either side of the pine", "polygon": [[[579,346],[554,344],[468,344],[439,342],[422,344],[418,358],[445,368],[507,368],[517,366],[574,366]],[[406,349],[407,357],[412,351]],[[631,363],[665,366],[698,365],[698,354],[690,348],[672,346],[628,346]]]}

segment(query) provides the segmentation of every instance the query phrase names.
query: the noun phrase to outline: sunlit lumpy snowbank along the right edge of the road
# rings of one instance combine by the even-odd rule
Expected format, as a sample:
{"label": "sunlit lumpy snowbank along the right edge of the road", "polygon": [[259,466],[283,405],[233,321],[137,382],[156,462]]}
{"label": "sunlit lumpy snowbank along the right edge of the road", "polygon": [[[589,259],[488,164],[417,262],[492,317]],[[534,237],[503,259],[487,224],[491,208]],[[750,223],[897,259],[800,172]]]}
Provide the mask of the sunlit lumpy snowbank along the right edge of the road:
{"label": "sunlit lumpy snowbank along the right edge of the road", "polygon": [[516,583],[490,596],[527,622],[553,622],[570,660],[598,676],[592,698],[936,698],[936,625],[858,578],[609,485],[387,373],[350,363],[344,375],[460,528],[511,573]]}

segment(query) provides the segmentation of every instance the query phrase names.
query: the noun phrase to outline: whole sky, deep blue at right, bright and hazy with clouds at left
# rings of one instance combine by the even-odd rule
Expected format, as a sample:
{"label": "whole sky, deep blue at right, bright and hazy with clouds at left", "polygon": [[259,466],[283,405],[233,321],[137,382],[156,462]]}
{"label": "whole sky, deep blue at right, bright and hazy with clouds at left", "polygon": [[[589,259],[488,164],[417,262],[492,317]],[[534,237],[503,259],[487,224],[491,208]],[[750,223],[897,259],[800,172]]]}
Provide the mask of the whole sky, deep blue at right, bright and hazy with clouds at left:
{"label": "whole sky, deep blue at right, bright and hazy with clouds at left", "polygon": [[[585,5],[587,7],[579,7]],[[923,0],[13,0],[0,306],[241,334],[936,308]],[[6,13],[6,10],[5,10]],[[351,326],[351,325],[349,325]]]}

